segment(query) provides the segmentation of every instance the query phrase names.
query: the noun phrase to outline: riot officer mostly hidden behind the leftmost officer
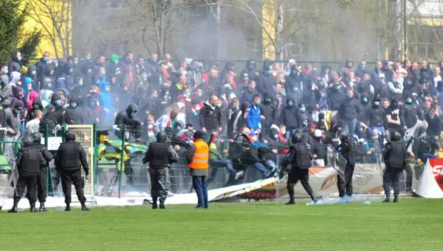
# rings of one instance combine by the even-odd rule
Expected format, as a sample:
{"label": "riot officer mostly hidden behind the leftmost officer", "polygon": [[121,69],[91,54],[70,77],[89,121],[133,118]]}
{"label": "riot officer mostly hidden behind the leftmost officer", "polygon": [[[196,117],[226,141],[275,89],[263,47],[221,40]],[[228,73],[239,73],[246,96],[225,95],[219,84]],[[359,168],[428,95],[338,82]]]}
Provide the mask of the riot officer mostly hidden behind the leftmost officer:
{"label": "riot officer mostly hidden behind the leftmost officer", "polygon": [[[44,145],[41,144],[42,142],[42,135],[39,132],[33,132],[33,134],[30,135],[33,143],[33,146],[35,146],[36,148],[42,148],[42,153],[47,153],[46,148]],[[48,153],[49,156],[51,156],[52,159],[52,155],[51,153]],[[48,209],[46,209],[46,207],[44,206],[44,203],[46,202],[46,165],[48,164],[49,161],[51,161],[51,159],[46,160],[46,162],[42,162],[41,166],[40,166],[40,172],[37,175],[37,198],[40,202],[40,208],[39,211],[49,211]]]}

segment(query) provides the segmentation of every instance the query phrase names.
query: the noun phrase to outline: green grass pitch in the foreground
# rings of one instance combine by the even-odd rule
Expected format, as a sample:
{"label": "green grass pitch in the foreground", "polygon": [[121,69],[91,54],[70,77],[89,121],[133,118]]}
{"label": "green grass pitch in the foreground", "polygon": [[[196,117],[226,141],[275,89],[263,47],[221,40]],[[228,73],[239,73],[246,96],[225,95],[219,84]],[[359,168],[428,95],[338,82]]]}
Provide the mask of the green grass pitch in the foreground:
{"label": "green grass pitch in the foreground", "polygon": [[[37,203],[38,204],[38,203]],[[0,250],[443,250],[443,201],[0,213]]]}

